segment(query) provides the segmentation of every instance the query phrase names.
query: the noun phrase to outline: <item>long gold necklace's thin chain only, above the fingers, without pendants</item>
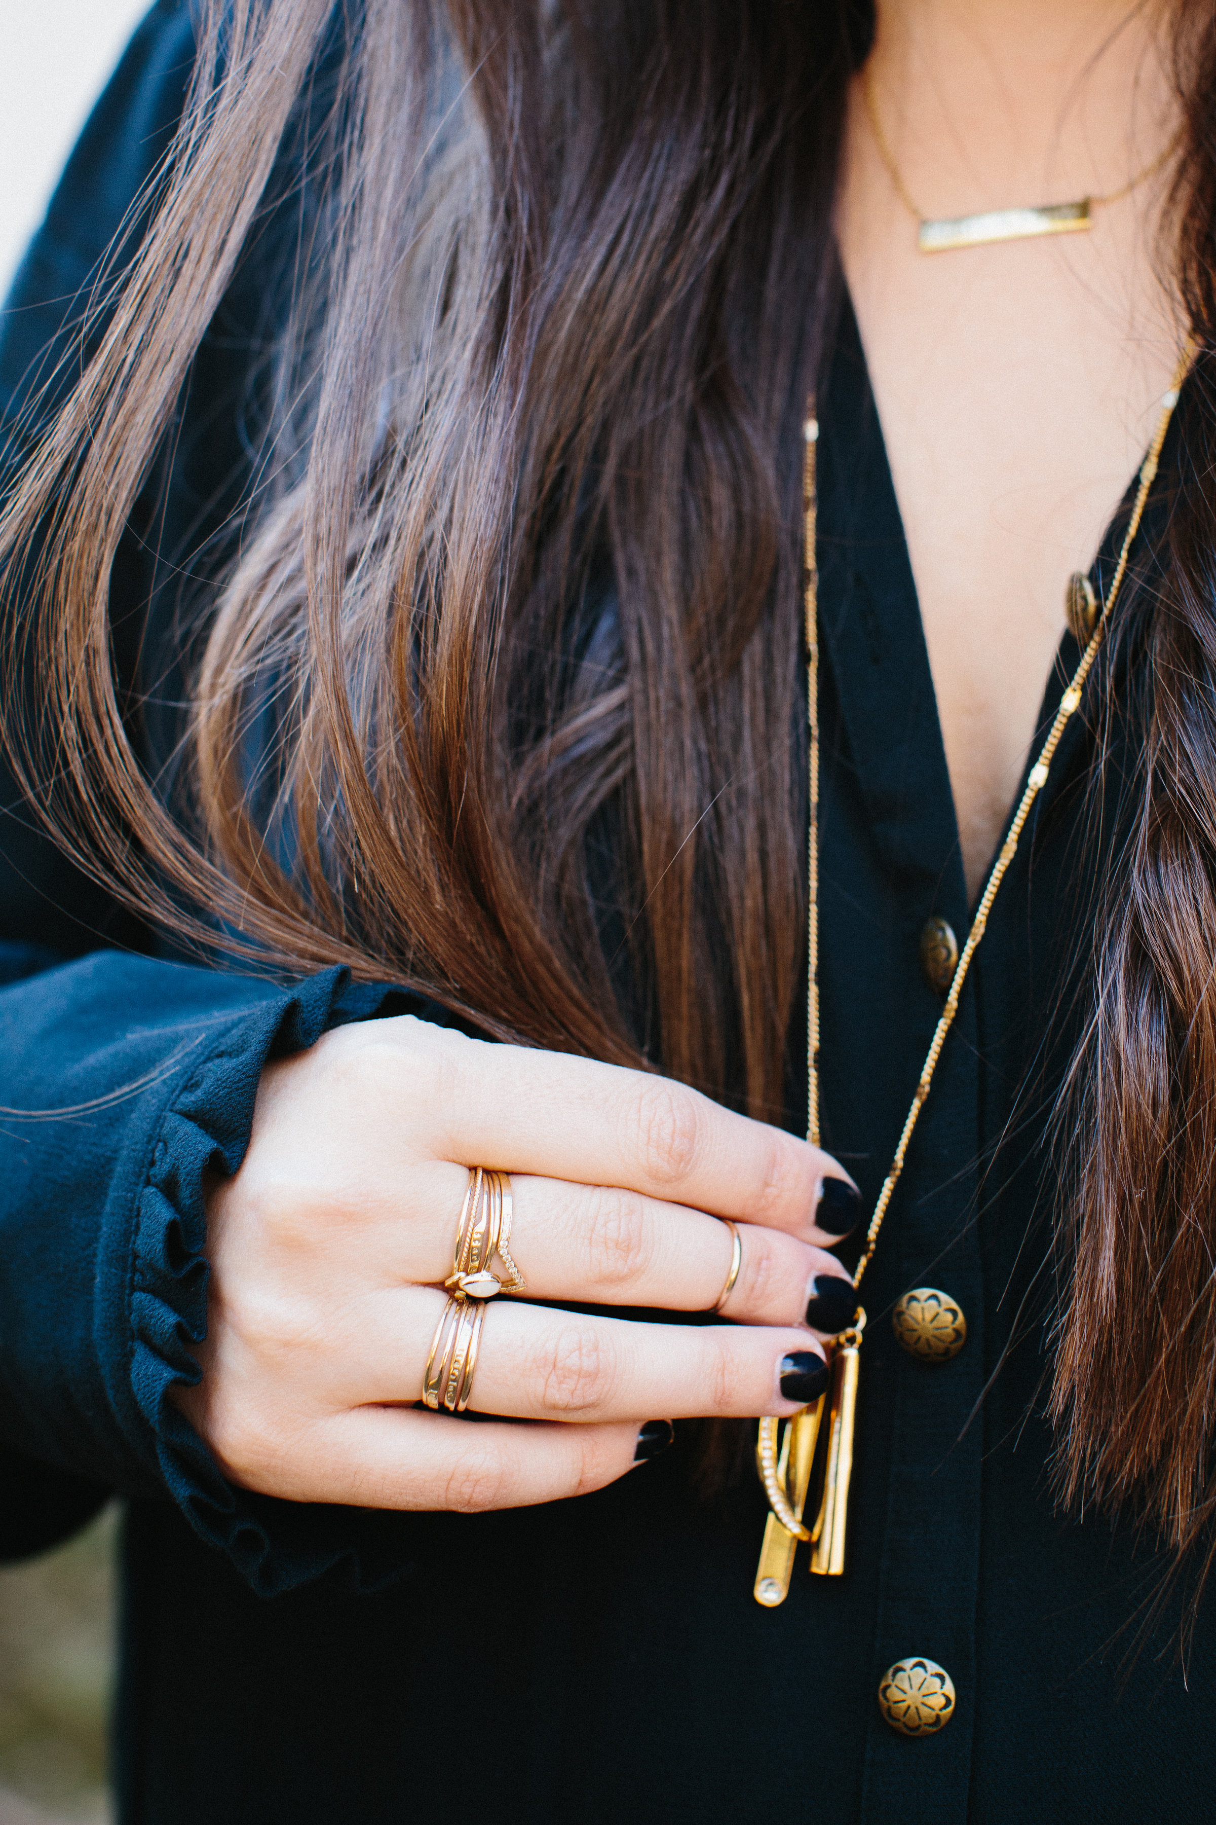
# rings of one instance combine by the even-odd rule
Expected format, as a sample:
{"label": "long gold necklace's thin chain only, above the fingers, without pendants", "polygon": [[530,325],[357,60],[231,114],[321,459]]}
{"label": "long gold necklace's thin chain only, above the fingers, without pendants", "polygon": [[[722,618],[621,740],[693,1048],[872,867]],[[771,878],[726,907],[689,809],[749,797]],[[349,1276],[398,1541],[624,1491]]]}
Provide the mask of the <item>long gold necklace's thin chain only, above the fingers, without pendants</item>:
{"label": "long gold necklace's thin chain only, above the fingers, without pendants", "polygon": [[[992,903],[1001,891],[1001,881],[1008,874],[1010,863],[1017,854],[1017,843],[1026,827],[1026,818],[1030,808],[1037,799],[1039,792],[1046,785],[1046,777],[1056,757],[1056,750],[1061,743],[1068,721],[1081,706],[1081,692],[1085,681],[1090,675],[1094,661],[1110,624],[1110,615],[1119,600],[1123,589],[1123,580],[1127,577],[1127,564],[1132,551],[1136,535],[1139,533],[1139,522],[1143,520],[1145,504],[1149,500],[1149,491],[1156,480],[1158,462],[1161,458],[1161,445],[1165,443],[1165,433],[1169,431],[1170,418],[1174,416],[1174,407],[1178,405],[1178,394],[1181,385],[1194,363],[1194,343],[1187,341],[1183,354],[1174,370],[1174,380],[1169,392],[1161,398],[1161,414],[1158,418],[1158,427],[1149,445],[1149,454],[1139,465],[1139,487],[1136,489],[1136,500],[1132,506],[1132,515],[1127,522],[1127,533],[1123,535],[1123,546],[1119,549],[1119,560],[1110,579],[1110,589],[1105,591],[1101,613],[1094,626],[1081,662],[1068,681],[1068,688],[1059,699],[1059,710],[1048,730],[1046,741],[1039,748],[1037,759],[1030,768],[1026,777],[1026,788],[1014,812],[1014,821],[1010,823],[1008,836],[1005,838],[997,860],[992,865],[988,881],[975,907],[975,918],[972,920],[972,929],[968,933],[966,944],[963,945],[963,954],[953,971],[953,980],[950,982],[950,993],[946,995],[946,1006],[941,1011],[937,1029],[930,1042],[930,1049],[921,1066],[921,1077],[917,1079],[917,1088],[912,1099],[912,1108],[904,1119],[902,1132],[899,1135],[899,1144],[895,1148],[895,1157],[891,1159],[890,1172],[882,1181],[882,1190],[879,1192],[879,1201],[873,1208],[870,1219],[870,1228],[866,1232],[866,1248],[860,1261],[857,1263],[857,1272],[853,1274],[853,1285],[860,1287],[862,1276],[873,1259],[873,1250],[879,1243],[879,1230],[886,1212],[890,1210],[895,1186],[899,1184],[899,1175],[904,1170],[904,1161],[908,1157],[908,1146],[912,1135],[921,1119],[921,1110],[928,1100],[928,1093],[933,1082],[933,1071],[937,1069],[937,1060],[941,1058],[943,1046],[946,1044],[946,1035],[953,1026],[953,1017],[959,1011],[959,996],[963,995],[963,986],[966,982],[968,971],[975,951],[983,944],[984,931],[988,929],[988,916],[992,912]],[[806,1137],[813,1146],[819,1146],[819,569],[815,560],[815,526],[817,526],[817,485],[815,485],[815,451],[819,442],[819,423],[815,414],[809,412],[806,420],[806,462],[804,462],[804,538],[808,557],[804,560],[804,611],[806,611],[806,690],[808,690],[808,726],[809,726],[809,905],[808,905],[808,965],[809,965],[809,1033],[808,1033],[808,1122]]]}

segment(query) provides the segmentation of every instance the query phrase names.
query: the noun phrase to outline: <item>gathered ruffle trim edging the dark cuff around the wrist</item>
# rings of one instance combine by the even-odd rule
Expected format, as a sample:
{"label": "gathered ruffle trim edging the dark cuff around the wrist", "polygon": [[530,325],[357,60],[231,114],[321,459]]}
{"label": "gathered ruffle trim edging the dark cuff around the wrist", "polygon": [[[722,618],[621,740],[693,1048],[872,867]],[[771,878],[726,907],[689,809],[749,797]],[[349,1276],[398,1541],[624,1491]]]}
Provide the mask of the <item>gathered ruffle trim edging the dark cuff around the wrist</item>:
{"label": "gathered ruffle trim edging the dark cuff around the wrist", "polygon": [[441,1009],[401,989],[352,984],[330,969],[239,1017],[197,1066],[168,1110],[144,1183],[129,1301],[131,1391],[151,1429],[168,1495],[195,1531],[226,1553],[263,1595],[292,1590],[343,1566],[374,1590],[410,1570],[401,1515],[284,1502],[233,1487],[170,1400],[195,1385],[191,1343],[206,1334],[208,1263],[204,1177],[244,1159],[263,1066],[312,1046],[354,1020]]}

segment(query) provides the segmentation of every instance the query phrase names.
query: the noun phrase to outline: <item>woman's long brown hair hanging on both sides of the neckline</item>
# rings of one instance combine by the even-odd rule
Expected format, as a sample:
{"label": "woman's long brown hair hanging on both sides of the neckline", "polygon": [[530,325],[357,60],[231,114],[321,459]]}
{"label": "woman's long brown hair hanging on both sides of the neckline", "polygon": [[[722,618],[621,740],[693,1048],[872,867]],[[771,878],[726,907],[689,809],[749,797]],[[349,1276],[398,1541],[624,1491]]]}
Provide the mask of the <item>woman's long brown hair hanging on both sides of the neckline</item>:
{"label": "woman's long brown hair hanging on both sides of the neckline", "polygon": [[[9,701],[9,750],[89,872],[259,967],[343,962],[778,1115],[806,916],[799,420],[868,31],[857,0],[206,0],[149,230],[0,524],[9,675],[46,681],[36,714]],[[1187,9],[1180,69],[1172,221],[1209,347],[1212,7]],[[286,142],[310,206],[268,387],[281,482],[215,591],[193,798],[170,805],[115,692],[109,575]],[[1196,402],[1074,1071],[1054,1383],[1068,1495],[1136,1498],[1180,1548],[1216,1504],[1205,363]],[[1132,1318],[1147,1290],[1159,1327]]]}

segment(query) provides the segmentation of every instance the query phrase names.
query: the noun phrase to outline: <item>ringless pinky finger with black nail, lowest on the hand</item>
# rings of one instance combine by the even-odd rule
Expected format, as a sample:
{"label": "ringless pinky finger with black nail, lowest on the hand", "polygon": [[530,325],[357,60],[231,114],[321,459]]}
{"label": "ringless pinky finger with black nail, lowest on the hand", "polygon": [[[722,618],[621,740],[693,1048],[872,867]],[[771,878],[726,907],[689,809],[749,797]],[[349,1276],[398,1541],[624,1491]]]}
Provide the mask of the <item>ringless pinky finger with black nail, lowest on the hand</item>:
{"label": "ringless pinky finger with black nail, lowest on the hand", "polygon": [[[658,1422],[665,1427],[665,1422]],[[417,1407],[356,1407],[325,1422],[326,1495],[359,1507],[481,1515],[589,1495],[654,1455],[669,1429],[469,1422]]]}

